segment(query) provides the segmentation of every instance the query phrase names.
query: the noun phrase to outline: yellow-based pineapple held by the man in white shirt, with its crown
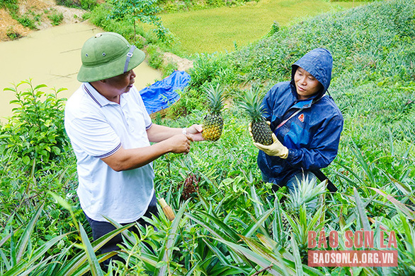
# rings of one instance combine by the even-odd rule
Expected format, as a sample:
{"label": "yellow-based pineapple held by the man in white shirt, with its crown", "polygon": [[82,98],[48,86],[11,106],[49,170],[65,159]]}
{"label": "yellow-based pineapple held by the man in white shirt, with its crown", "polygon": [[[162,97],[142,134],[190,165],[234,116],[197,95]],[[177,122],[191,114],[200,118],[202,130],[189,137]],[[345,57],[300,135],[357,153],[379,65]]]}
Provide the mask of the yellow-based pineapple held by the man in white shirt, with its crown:
{"label": "yellow-based pineapple held by the man in white shirt, with its crown", "polygon": [[222,135],[223,119],[220,111],[223,107],[223,88],[218,83],[216,88],[209,84],[204,88],[207,93],[207,100],[209,100],[210,114],[207,114],[203,119],[202,136],[205,140],[216,141]]}

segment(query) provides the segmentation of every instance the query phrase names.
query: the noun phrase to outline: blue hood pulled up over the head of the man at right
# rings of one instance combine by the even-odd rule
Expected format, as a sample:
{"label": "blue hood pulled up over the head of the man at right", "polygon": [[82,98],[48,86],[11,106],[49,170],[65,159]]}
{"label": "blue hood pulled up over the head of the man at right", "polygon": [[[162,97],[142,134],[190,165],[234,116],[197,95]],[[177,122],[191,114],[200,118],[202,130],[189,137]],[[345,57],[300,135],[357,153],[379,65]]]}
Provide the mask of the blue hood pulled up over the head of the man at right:
{"label": "blue hood pulled up over the head of the man at right", "polygon": [[298,67],[312,74],[323,85],[323,89],[317,93],[316,98],[322,97],[329,89],[331,69],[333,68],[333,57],[329,50],[324,48],[314,49],[302,56],[295,64],[292,64],[291,83],[294,83],[294,75]]}

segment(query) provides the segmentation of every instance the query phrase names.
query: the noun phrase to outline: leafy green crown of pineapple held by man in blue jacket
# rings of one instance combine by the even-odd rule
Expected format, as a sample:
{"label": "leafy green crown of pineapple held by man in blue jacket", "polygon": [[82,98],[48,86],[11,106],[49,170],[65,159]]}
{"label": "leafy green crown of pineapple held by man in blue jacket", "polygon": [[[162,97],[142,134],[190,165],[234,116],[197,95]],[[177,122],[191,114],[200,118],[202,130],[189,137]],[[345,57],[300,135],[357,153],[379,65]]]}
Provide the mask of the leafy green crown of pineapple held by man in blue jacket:
{"label": "leafy green crown of pineapple held by man in blue jacket", "polygon": [[265,108],[259,97],[258,89],[251,88],[249,90],[244,90],[241,96],[239,96],[238,104],[246,111],[249,118],[251,118],[251,121],[264,121],[263,112]]}

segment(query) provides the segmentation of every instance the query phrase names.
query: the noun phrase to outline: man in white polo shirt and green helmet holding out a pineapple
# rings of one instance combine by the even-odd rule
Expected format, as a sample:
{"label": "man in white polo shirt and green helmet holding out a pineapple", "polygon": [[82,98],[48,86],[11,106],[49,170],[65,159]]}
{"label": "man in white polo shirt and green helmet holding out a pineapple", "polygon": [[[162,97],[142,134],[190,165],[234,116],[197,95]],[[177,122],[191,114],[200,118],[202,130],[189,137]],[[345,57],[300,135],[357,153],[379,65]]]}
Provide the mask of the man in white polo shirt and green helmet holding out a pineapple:
{"label": "man in white polo shirt and green helmet holding out a pineapple", "polygon": [[[186,154],[191,141],[203,140],[200,125],[152,124],[133,86],[132,69],[144,57],[117,33],[91,37],[81,50],[77,78],[82,85],[65,107],[65,129],[77,160],[77,193],[94,240],[115,229],[106,217],[144,224],[142,216],[157,215],[152,161],[167,152]],[[121,241],[118,236],[101,252],[117,250]]]}

